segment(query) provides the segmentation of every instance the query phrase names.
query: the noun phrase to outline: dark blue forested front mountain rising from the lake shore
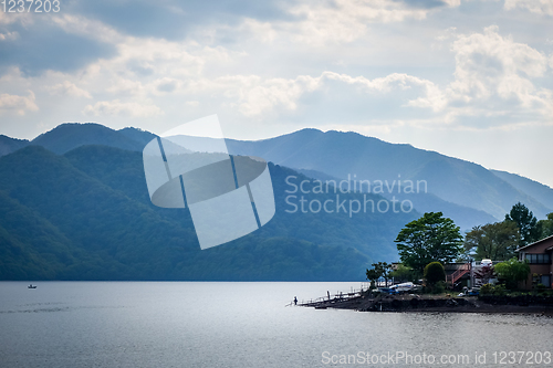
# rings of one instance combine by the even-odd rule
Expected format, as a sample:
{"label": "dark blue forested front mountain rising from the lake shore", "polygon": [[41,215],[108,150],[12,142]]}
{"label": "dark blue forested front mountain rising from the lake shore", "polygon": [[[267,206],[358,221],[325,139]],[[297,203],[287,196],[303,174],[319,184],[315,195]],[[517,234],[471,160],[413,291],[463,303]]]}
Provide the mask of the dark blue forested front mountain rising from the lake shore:
{"label": "dark blue forested front mountain rising from the lake shore", "polygon": [[[270,170],[273,220],[201,251],[188,210],[150,203],[142,153],[22,148],[0,158],[0,280],[363,280],[372,261],[396,259],[393,240],[420,215],[289,213],[290,178],[309,178],[272,164]],[[305,189],[310,202],[336,197]]]}

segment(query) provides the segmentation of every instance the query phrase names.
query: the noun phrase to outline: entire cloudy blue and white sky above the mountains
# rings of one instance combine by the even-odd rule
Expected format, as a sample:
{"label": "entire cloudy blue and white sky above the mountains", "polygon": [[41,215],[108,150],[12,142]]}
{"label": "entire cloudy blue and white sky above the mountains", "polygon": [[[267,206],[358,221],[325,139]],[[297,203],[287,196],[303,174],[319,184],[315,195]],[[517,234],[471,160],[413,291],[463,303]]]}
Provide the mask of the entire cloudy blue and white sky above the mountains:
{"label": "entire cloudy blue and white sky above the mountains", "polygon": [[67,122],[163,134],[217,114],[229,138],[353,130],[553,187],[553,0],[7,10],[3,135],[32,139]]}

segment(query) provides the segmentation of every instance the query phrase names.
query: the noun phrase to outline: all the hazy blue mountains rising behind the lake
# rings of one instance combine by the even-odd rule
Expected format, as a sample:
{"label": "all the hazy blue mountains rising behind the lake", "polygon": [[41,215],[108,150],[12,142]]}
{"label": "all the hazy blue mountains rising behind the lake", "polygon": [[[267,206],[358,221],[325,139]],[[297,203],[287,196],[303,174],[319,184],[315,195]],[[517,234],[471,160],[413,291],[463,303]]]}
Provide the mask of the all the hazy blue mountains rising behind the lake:
{"label": "all the hazy blue mountains rising behind the lake", "polygon": [[[422,212],[442,211],[469,230],[502,220],[518,201],[539,219],[553,211],[553,189],[513,174],[355,133],[303,129],[227,140],[231,154],[275,164],[276,214],[244,238],[199,251],[188,210],[149,201],[142,149],[154,137],[98,124],[63,124],[32,141],[0,136],[0,278],[358,280],[371,262],[397,260],[397,232]],[[313,178],[354,175],[372,183],[424,180],[428,190],[338,191],[347,200],[409,199],[408,213],[289,213],[286,178],[313,189]]]}

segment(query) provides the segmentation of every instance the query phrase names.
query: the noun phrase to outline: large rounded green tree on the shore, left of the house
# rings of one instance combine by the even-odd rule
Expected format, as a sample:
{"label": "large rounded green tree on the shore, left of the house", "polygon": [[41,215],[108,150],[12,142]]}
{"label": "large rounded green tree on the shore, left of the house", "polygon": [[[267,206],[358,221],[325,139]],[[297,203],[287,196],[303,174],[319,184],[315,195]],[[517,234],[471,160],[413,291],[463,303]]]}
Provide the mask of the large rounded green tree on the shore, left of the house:
{"label": "large rounded green tree on the shore, left of the house", "polygon": [[409,222],[395,242],[401,262],[422,274],[430,262],[450,263],[461,253],[462,236],[453,220],[441,212],[427,212]]}

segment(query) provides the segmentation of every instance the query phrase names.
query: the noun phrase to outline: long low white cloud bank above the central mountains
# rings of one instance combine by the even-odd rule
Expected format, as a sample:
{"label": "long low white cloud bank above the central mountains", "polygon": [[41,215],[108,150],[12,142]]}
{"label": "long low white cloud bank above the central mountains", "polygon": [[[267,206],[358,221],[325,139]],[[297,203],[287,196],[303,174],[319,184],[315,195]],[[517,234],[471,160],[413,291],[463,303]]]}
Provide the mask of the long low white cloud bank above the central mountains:
{"label": "long low white cloud bank above the central mountains", "polygon": [[[436,94],[434,83],[416,76],[393,73],[385,77],[366,78],[325,71],[319,76],[299,75],[295,78],[262,78],[257,75],[234,75],[216,80],[199,80],[188,84],[185,93],[223,94],[230,101],[228,106],[237,108],[247,117],[259,117],[263,114],[280,115],[294,112],[305,104],[305,98],[315,97],[319,104],[336,111],[348,109],[346,105],[367,108],[374,101],[394,99],[395,107],[410,106],[410,98],[422,94],[431,98]],[[394,93],[394,94],[392,94]],[[349,96],[344,103],[342,96]],[[388,96],[388,97],[385,97]],[[367,98],[371,103],[367,103]],[[344,105],[345,104],[345,105]],[[321,109],[321,107],[317,107]],[[392,111],[392,109],[390,109]]]}

